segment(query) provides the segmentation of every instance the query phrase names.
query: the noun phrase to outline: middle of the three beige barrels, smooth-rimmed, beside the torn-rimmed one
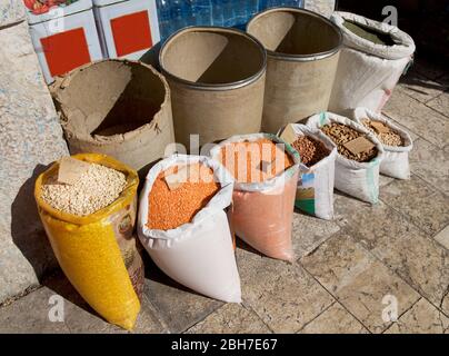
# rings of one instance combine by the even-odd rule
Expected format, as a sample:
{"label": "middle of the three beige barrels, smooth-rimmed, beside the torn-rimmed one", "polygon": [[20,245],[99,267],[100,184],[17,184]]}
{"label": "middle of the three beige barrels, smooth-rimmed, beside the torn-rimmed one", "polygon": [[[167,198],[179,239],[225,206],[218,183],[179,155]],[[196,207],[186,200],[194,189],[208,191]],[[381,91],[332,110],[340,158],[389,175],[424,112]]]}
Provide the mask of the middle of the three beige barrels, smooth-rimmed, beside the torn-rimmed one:
{"label": "middle of the three beige barrels, smooth-rimmed, beside the torn-rimmed one", "polygon": [[260,131],[266,51],[251,36],[192,27],[171,36],[159,62],[171,95],[177,142],[188,150],[238,134]]}

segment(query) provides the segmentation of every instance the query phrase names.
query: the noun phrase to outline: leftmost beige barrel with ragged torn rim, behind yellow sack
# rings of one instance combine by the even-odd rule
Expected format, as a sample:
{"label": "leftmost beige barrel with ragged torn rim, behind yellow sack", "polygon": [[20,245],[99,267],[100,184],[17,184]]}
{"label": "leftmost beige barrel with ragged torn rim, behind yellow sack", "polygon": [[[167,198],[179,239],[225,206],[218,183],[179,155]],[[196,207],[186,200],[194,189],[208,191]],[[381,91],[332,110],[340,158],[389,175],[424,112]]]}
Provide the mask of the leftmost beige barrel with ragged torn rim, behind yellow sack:
{"label": "leftmost beige barrel with ragged torn rim, behind yellow sack", "polygon": [[151,66],[93,62],[59,78],[51,91],[71,154],[104,154],[143,170],[174,141],[170,89]]}

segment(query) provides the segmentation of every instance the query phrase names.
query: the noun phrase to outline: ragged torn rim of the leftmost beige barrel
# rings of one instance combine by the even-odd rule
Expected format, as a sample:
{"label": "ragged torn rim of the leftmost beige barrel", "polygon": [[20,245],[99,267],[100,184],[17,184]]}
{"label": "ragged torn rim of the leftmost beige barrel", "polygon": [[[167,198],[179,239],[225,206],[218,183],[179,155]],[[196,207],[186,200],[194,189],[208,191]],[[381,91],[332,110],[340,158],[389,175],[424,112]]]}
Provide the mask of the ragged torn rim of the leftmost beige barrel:
{"label": "ragged torn rim of the leftmost beige barrel", "polygon": [[[161,83],[163,85],[163,88],[166,90],[166,93],[163,96],[163,101],[160,105],[159,111],[152,117],[152,119],[138,127],[137,129],[133,129],[131,131],[127,131],[124,134],[116,134],[116,135],[111,135],[111,136],[103,136],[103,135],[96,135],[92,136],[92,134],[90,134],[89,136],[83,136],[80,137],[78,136],[76,132],[73,132],[72,130],[70,130],[68,128],[68,117],[64,112],[64,107],[66,105],[63,103],[63,101],[61,100],[61,93],[63,92],[63,90],[70,85],[70,81],[74,78],[74,76],[77,76],[79,72],[102,63],[102,62],[120,62],[120,63],[131,63],[131,65],[137,65],[137,66],[142,66],[146,67],[147,69],[151,70],[151,72],[159,78],[159,80],[161,81]],[[87,65],[83,65],[81,67],[78,67],[71,71],[69,71],[68,73],[61,76],[61,77],[57,77],[56,81],[50,86],[50,92],[53,97],[53,100],[58,101],[60,109],[58,109],[58,113],[60,116],[60,123],[63,128],[63,131],[66,135],[70,136],[70,139],[76,138],[78,140],[78,142],[80,144],[86,144],[86,145],[90,145],[90,146],[117,146],[117,144],[124,144],[128,140],[147,134],[151,130],[153,130],[156,128],[156,126],[160,127],[164,127],[164,125],[160,125],[160,121],[163,119],[162,115],[163,115],[163,110],[166,108],[169,108],[171,110],[171,93],[170,93],[170,87],[167,82],[167,79],[158,71],[154,69],[154,67],[152,67],[151,65],[147,65],[143,63],[141,61],[138,60],[130,60],[130,59],[118,59],[118,58],[110,58],[110,59],[100,59],[100,60],[96,60],[92,62],[89,62]],[[73,145],[73,142],[69,142],[69,145]],[[79,145],[77,145],[79,146]]]}

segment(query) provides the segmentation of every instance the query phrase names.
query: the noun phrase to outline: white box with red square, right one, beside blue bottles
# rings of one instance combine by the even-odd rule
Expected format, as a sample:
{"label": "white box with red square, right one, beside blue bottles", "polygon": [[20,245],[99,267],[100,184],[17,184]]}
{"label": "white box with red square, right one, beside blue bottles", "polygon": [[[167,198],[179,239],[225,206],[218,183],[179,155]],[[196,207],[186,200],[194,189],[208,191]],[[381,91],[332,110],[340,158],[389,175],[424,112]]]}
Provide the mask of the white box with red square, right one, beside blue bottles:
{"label": "white box with red square, right one, beside blue bottles", "polygon": [[159,42],[156,0],[93,0],[104,57],[139,59]]}

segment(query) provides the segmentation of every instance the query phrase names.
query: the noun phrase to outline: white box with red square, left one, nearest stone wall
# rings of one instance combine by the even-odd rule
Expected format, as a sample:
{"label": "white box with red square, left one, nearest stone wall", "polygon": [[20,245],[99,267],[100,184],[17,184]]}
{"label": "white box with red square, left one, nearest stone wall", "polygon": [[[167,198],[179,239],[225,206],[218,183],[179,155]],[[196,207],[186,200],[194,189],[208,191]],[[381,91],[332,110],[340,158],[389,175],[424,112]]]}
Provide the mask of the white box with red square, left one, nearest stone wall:
{"label": "white box with red square, left one, nearest stone wall", "polygon": [[47,83],[56,76],[103,58],[91,0],[80,0],[39,16],[28,11],[27,16]]}

